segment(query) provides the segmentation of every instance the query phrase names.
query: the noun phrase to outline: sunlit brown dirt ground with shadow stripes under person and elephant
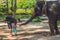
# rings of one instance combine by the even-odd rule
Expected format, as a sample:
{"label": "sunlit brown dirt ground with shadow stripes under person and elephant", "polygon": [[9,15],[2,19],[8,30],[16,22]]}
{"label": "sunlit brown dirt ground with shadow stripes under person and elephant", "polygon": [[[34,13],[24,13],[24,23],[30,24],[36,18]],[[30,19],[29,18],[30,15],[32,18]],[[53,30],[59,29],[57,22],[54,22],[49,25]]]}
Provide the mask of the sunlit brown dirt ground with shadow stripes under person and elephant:
{"label": "sunlit brown dirt ground with shadow stripes under person and elephant", "polygon": [[10,37],[6,23],[0,23],[0,40],[60,40],[60,35],[51,36],[48,21],[30,22],[17,27],[17,36]]}

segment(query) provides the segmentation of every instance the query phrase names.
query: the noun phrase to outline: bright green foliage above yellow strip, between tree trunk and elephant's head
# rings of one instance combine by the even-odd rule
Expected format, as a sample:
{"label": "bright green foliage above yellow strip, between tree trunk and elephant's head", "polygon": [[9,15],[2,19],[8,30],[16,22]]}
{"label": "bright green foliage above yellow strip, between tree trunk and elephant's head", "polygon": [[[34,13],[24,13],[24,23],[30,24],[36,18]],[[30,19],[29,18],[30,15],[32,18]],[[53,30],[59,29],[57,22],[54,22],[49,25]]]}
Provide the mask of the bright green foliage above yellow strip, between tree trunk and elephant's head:
{"label": "bright green foliage above yellow strip, between tree trunk and elephant's head", "polygon": [[32,8],[34,7],[35,3],[35,0],[17,0],[17,8]]}

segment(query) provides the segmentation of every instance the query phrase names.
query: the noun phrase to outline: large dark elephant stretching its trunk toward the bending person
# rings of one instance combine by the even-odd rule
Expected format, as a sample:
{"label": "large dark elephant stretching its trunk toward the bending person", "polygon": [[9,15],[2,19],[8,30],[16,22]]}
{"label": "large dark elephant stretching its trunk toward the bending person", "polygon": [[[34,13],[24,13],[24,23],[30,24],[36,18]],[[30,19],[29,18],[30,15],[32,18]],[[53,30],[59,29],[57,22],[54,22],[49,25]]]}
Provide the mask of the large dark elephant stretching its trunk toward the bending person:
{"label": "large dark elephant stretching its trunk toward the bending person", "polygon": [[58,0],[47,1],[46,4],[44,1],[37,0],[31,18],[27,22],[22,23],[21,25],[25,25],[29,23],[30,21],[32,21],[33,18],[37,16],[42,16],[43,14],[42,10],[45,12],[45,14],[49,19],[51,35],[59,34],[58,27],[57,27],[57,20],[60,19],[60,2]]}

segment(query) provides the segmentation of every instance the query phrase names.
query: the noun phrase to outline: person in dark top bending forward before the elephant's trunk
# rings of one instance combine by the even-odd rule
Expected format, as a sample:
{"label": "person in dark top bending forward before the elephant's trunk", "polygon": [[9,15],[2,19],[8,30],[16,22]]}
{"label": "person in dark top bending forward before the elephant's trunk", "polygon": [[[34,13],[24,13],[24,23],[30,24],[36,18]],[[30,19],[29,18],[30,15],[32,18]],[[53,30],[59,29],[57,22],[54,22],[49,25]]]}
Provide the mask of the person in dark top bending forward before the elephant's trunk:
{"label": "person in dark top bending forward before the elephant's trunk", "polygon": [[14,18],[11,15],[6,16],[6,22],[8,24],[10,36],[13,36],[12,32],[14,32],[14,34],[16,35],[16,33],[17,33],[16,27],[17,27],[18,21],[20,21],[20,20]]}

